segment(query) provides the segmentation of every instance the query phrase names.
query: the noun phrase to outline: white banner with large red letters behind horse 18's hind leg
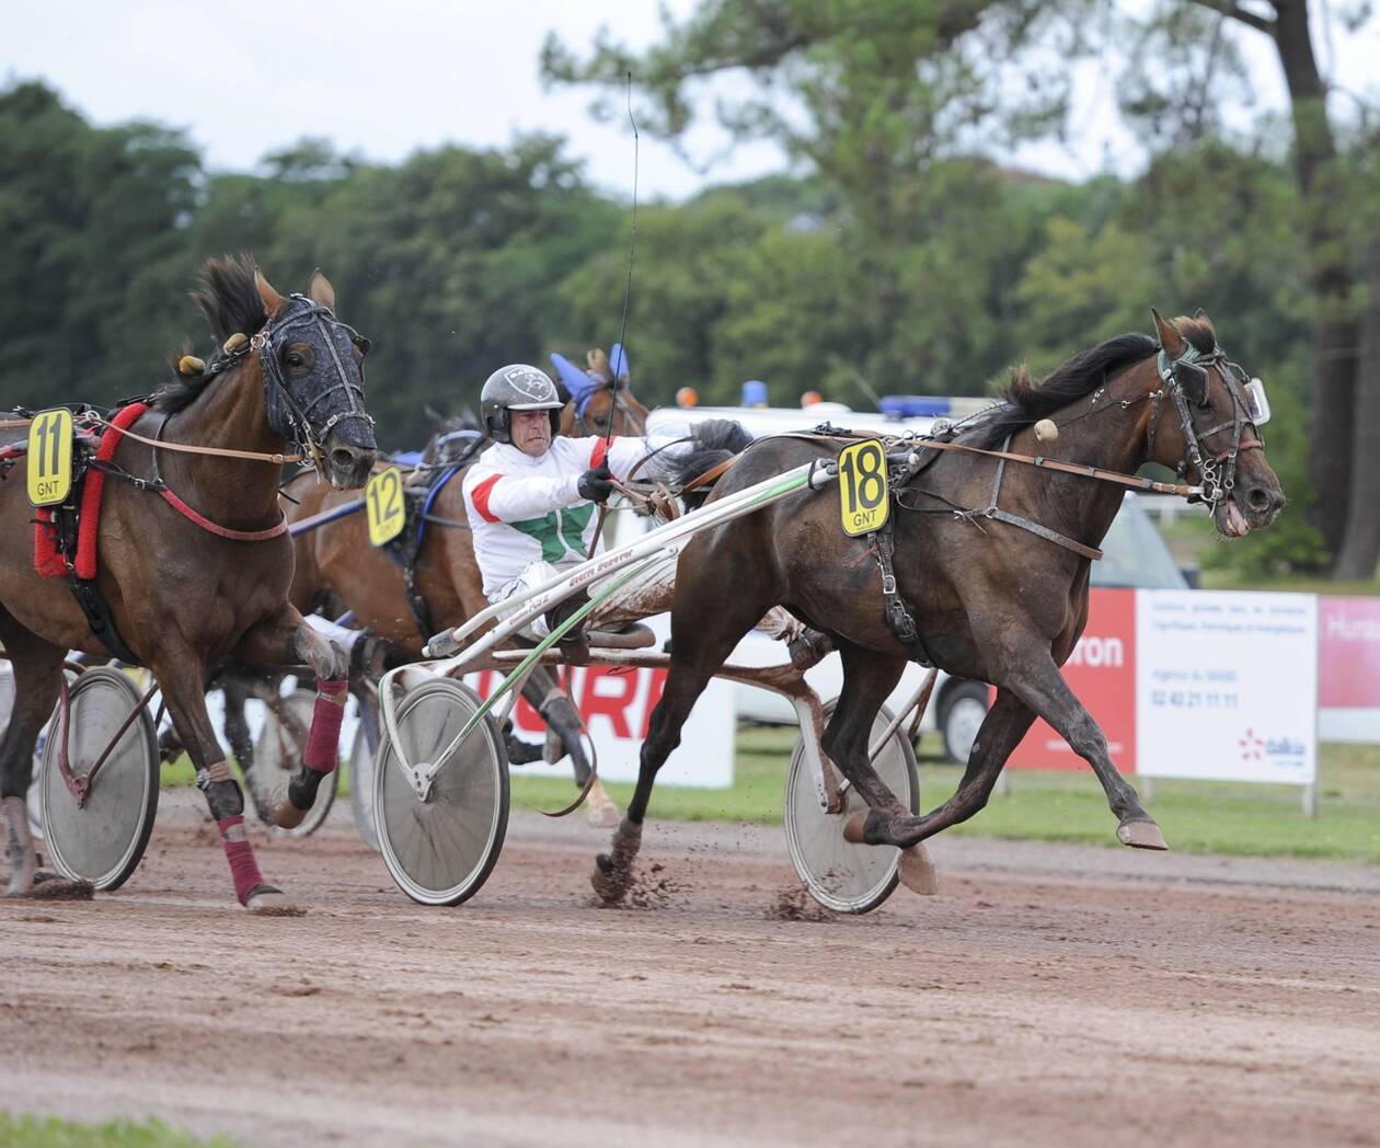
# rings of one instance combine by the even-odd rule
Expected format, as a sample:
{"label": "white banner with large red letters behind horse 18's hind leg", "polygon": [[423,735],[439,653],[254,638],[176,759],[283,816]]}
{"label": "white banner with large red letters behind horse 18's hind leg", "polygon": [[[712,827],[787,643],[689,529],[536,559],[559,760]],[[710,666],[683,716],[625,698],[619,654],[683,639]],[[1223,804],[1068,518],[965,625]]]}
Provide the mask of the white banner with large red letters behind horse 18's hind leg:
{"label": "white banner with large red letters behind horse 18's hind leg", "polygon": [[[651,649],[660,650],[671,632],[671,615],[647,618],[646,625],[657,635],[657,644]],[[493,671],[465,677],[483,697],[501,680]],[[665,683],[664,669],[633,669],[625,673],[603,666],[570,669],[570,700],[593,738],[599,753],[599,775],[606,781],[638,780],[647,722],[661,700]],[[526,701],[518,702],[512,718],[513,731],[523,741],[537,745],[545,741],[546,724]],[[711,679],[680,730],[680,745],[657,774],[657,785],[727,789],[733,785],[736,731],[733,684]],[[555,766],[541,762],[515,766],[513,773],[516,777],[570,777],[570,759],[562,759]]]}

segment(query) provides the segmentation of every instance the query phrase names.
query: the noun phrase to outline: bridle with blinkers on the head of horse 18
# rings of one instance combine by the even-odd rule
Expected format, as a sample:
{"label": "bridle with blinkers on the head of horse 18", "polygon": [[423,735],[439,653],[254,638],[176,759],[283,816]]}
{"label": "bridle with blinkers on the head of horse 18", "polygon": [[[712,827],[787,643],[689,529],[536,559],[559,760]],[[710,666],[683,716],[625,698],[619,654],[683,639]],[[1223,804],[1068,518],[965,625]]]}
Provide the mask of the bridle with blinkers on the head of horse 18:
{"label": "bridle with blinkers on the head of horse 18", "polygon": [[[1184,350],[1174,359],[1163,348],[1156,359],[1161,388],[1151,393],[1150,433],[1147,437],[1145,455],[1155,457],[1155,430],[1159,426],[1159,406],[1169,395],[1179,415],[1179,425],[1184,435],[1184,454],[1174,466],[1174,473],[1184,479],[1190,466],[1198,471],[1202,494],[1194,495],[1188,501],[1202,501],[1216,506],[1228,498],[1236,486],[1236,461],[1248,450],[1264,450],[1265,444],[1256,428],[1256,411],[1248,399],[1248,388],[1252,385],[1245,370],[1238,363],[1232,363],[1224,350],[1213,349],[1203,353],[1187,339]],[[1209,371],[1217,370],[1227,393],[1231,396],[1231,418],[1199,430],[1192,407],[1208,408]],[[1264,418],[1260,419],[1261,422]],[[1254,435],[1248,436],[1250,426]],[[1206,439],[1213,435],[1231,433],[1231,444],[1223,450],[1212,451],[1206,447]]]}

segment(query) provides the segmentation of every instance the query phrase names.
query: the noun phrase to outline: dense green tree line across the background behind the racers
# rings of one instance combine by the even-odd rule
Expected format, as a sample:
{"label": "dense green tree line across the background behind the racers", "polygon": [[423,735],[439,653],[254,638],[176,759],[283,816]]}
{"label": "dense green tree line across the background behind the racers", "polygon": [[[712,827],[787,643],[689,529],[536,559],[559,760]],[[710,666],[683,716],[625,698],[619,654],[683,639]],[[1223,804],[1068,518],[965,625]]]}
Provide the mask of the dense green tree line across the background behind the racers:
{"label": "dense green tree line across the background behind the racers", "polygon": [[[842,11],[842,25],[787,29],[780,44],[733,41],[762,66],[776,66],[769,48],[777,63],[813,52],[828,73],[813,135],[792,144],[809,163],[800,175],[639,207],[625,341],[640,397],[667,404],[691,385],[704,403],[736,404],[748,378],[766,379],[778,404],[806,390],[857,408],[878,393],[992,393],[1017,363],[1043,373],[1147,330],[1151,306],[1202,306],[1232,356],[1267,379],[1270,458],[1292,501],[1314,497],[1315,236],[1300,226],[1310,208],[1286,149],[1203,130],[1158,150],[1136,179],[1006,170],[976,148],[940,146],[941,127],[926,126],[933,109],[912,106],[908,91],[897,99],[896,76],[936,50],[923,37],[893,43],[878,21],[915,6],[744,6],[758,7]],[[872,23],[858,22],[862,8]],[[705,4],[701,15],[741,10]],[[718,51],[686,39],[662,48]],[[553,44],[545,66],[591,83],[628,62],[600,52],[617,57],[604,44],[580,61]],[[656,81],[656,59],[635,62]],[[664,63],[679,75],[686,58]],[[683,130],[675,86],[649,91],[669,101],[667,132]],[[822,92],[846,106],[824,108]],[[869,112],[876,101],[887,115]],[[933,92],[930,102],[941,103]],[[1041,109],[1023,115],[1034,123]],[[742,112],[745,131],[763,123]],[[1363,166],[1352,166],[1355,182]],[[392,448],[424,439],[428,407],[477,406],[495,366],[545,364],[551,350],[581,360],[618,337],[629,204],[595,190],[559,138],[393,166],[306,139],[253,174],[215,172],[177,130],[94,127],[47,86],[21,81],[0,91],[0,189],[3,406],[150,390],[171,357],[204,349],[186,288],[204,258],[226,251],[253,253],[279,290],[326,270],[342,317],[374,339],[368,402]],[[1261,568],[1318,567],[1337,546],[1289,515],[1230,553]]]}

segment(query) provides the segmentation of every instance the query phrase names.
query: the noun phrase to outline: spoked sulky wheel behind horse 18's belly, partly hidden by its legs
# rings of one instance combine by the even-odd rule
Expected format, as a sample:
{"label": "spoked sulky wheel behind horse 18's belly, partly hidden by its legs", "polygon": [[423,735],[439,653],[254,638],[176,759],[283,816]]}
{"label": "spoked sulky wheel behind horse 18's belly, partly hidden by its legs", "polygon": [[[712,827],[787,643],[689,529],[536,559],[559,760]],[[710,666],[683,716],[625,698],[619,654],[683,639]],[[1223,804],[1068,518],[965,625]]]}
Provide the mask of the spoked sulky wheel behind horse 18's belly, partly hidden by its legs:
{"label": "spoked sulky wheel behind horse 18's belly, partly hidden by its legs", "polygon": [[[834,713],[835,704],[831,701],[824,706],[825,719]],[[885,705],[878,711],[872,720],[869,745],[883,734],[891,716]],[[824,767],[834,769],[828,760]],[[919,810],[920,781],[915,770],[915,753],[904,729],[887,738],[872,767],[911,813]],[[891,846],[846,842],[843,824],[858,810],[867,809],[867,802],[851,786],[846,798],[847,804],[840,814],[827,814],[820,809],[814,777],[805,759],[805,738],[796,738],[785,782],[785,839],[791,849],[791,864],[810,895],[827,909],[865,913],[880,905],[896,889],[901,851]]]}

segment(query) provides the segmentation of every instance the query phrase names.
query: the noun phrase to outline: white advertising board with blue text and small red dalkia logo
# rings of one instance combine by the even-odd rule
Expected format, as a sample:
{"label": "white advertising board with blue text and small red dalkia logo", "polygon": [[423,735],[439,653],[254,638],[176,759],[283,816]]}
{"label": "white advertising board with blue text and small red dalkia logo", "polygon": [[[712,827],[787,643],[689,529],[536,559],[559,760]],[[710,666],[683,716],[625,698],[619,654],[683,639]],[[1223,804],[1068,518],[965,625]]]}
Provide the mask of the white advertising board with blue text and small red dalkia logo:
{"label": "white advertising board with blue text and small red dalkia logo", "polygon": [[1318,600],[1137,591],[1136,771],[1311,785]]}

